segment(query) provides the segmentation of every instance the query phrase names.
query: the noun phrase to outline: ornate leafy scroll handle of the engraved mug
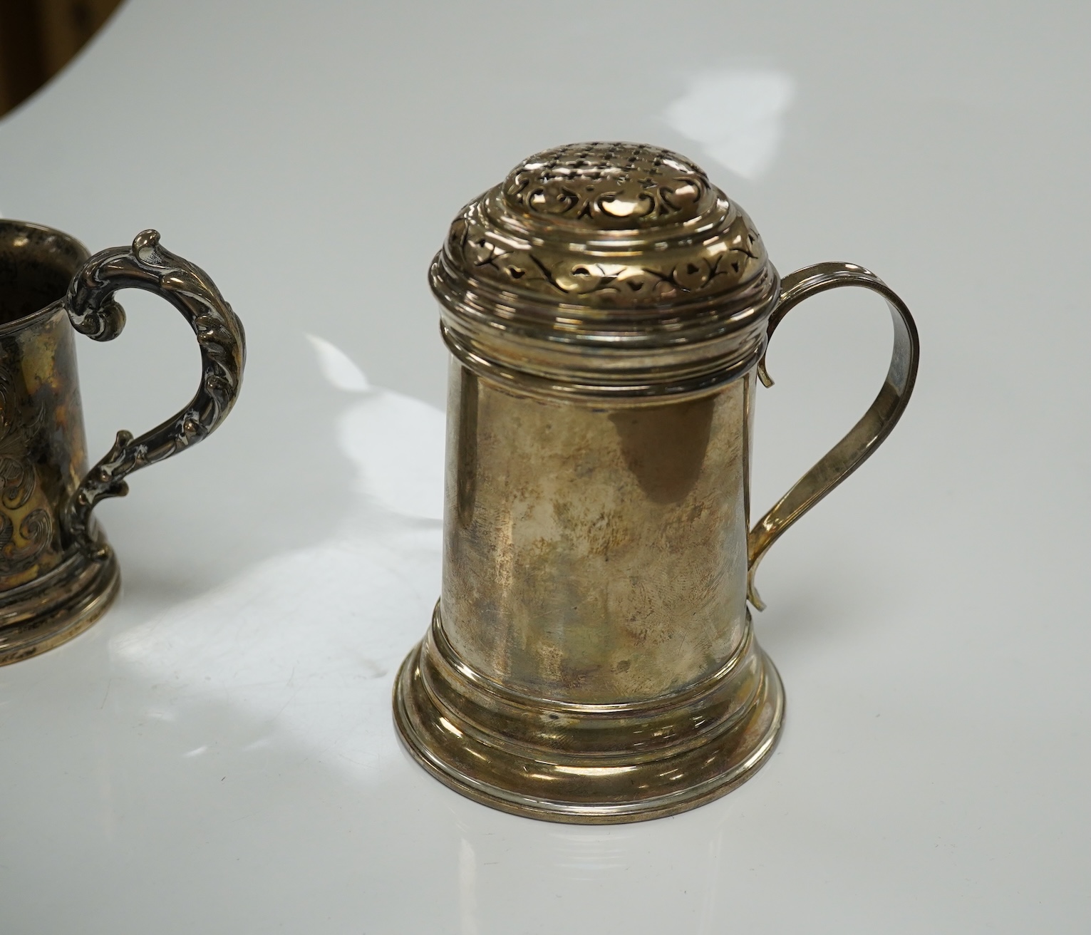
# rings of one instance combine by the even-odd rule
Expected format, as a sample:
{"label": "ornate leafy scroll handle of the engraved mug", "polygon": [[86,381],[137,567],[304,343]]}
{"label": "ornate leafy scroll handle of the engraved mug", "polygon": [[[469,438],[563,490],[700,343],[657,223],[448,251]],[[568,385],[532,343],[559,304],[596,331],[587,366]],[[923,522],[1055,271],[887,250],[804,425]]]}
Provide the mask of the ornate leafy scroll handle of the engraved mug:
{"label": "ornate leafy scroll handle of the engraved mug", "polygon": [[64,504],[65,546],[75,546],[99,561],[109,555],[109,547],[95,535],[91,518],[95,504],[108,496],[124,496],[129,492],[125,475],[211,434],[235,405],[247,358],[242,323],[208,274],[160,247],[157,231],[142,231],[131,249],[104,250],[84,263],[64,299],[75,329],[95,340],[112,340],[121,334],[125,313],[113,300],[119,289],[155,292],[185,316],[201,348],[201,386],[189,406],[151,432],[139,439],[118,432],[113,447]]}

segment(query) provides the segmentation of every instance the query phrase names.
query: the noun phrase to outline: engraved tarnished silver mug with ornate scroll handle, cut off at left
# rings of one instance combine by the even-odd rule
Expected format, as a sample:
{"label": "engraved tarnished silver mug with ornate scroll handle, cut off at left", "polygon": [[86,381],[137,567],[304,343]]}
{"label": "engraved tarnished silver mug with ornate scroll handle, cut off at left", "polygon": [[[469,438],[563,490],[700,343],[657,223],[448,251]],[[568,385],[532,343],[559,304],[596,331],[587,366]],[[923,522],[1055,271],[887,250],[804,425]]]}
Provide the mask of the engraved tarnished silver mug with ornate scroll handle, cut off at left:
{"label": "engraved tarnished silver mug with ornate scroll handle, cut off at left", "polygon": [[[182,313],[201,349],[201,385],[152,431],[118,432],[88,471],[73,329],[117,337],[125,315],[113,293],[128,288]],[[235,405],[244,362],[231,307],[156,231],[88,256],[67,233],[0,220],[0,666],[71,639],[107,610],[120,576],[95,504],[128,493],[127,475],[213,432]]]}

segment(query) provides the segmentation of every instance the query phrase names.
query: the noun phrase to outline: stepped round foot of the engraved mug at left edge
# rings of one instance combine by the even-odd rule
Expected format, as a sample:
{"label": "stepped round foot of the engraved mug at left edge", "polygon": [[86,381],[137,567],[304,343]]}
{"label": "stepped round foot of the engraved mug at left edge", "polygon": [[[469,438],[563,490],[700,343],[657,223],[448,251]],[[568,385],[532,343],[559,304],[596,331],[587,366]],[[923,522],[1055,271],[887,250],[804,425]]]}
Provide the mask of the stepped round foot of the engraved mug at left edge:
{"label": "stepped round foot of the engraved mug at left edge", "polygon": [[83,633],[113,603],[120,587],[112,551],[101,562],[76,552],[41,577],[0,591],[0,666]]}

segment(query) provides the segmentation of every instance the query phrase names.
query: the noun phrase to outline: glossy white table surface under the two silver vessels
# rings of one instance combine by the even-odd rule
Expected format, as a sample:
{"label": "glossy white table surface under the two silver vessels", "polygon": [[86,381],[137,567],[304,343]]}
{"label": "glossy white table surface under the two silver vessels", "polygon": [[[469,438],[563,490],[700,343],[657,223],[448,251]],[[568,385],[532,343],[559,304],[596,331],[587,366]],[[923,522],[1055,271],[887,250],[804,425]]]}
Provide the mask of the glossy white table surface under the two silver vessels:
{"label": "glossy white table surface under the two silver vessels", "polygon": [[[0,670],[0,931],[1091,931],[1089,10],[130,0],[0,122],[0,212],[93,250],[158,228],[249,364],[214,439],[99,508],[113,610]],[[389,716],[439,590],[428,262],[587,139],[697,159],[782,272],[875,269],[923,345],[894,435],[763,564],[777,754],[608,828],[459,798]],[[181,317],[127,308],[80,346],[93,453],[196,384]],[[804,309],[756,511],[886,369],[880,302]]]}

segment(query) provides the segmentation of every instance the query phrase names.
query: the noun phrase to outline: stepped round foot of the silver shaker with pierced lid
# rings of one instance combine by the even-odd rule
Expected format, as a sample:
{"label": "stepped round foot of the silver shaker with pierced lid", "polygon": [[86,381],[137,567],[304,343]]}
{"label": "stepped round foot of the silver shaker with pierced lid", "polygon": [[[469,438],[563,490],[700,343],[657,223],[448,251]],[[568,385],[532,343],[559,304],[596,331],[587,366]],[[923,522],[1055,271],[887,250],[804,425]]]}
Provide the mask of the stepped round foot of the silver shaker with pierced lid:
{"label": "stepped round foot of the silver shaker with pierced lid", "polygon": [[679,695],[573,705],[473,673],[436,616],[394,686],[401,741],[436,779],[504,812],[573,824],[642,822],[723,795],[769,757],[783,716],[780,676],[752,634]]}

